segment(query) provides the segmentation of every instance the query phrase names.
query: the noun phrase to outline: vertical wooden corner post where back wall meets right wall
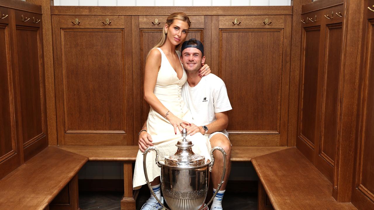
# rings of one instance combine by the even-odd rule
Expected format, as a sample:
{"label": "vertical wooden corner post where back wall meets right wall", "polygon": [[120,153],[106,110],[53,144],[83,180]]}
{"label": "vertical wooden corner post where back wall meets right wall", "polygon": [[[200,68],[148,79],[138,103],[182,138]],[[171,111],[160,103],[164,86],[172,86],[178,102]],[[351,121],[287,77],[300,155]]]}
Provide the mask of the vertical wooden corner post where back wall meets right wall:
{"label": "vertical wooden corner post where back wall meets right wall", "polygon": [[298,104],[300,92],[300,53],[301,53],[301,6],[310,2],[309,0],[298,0],[292,6],[292,36],[291,36],[291,70],[289,79],[289,109],[288,109],[288,135],[287,145],[296,146]]}

